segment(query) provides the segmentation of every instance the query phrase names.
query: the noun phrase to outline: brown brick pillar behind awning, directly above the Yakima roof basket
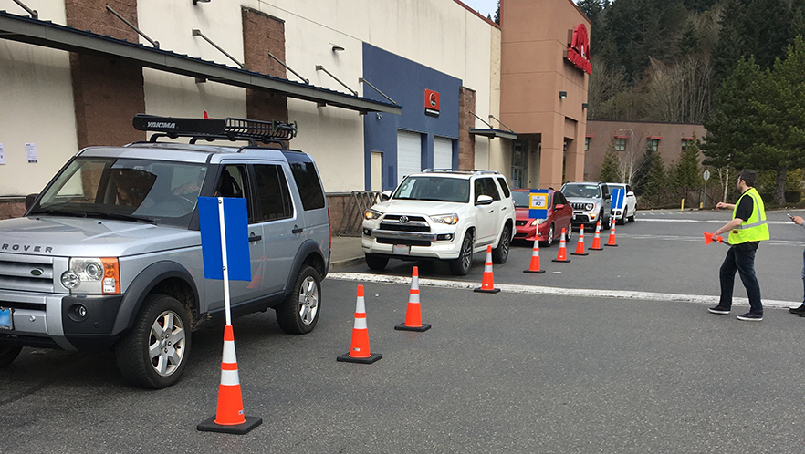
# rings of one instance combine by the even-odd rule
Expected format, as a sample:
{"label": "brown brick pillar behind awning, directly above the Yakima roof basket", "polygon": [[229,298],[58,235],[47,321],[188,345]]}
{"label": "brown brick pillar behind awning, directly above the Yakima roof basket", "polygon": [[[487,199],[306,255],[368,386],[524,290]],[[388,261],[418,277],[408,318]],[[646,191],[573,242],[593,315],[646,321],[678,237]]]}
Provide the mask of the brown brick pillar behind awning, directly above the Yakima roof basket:
{"label": "brown brick pillar behind awning, directly above the Yakima roof basket", "polygon": [[[285,22],[251,8],[243,8],[243,52],[246,69],[274,77],[287,77],[286,69],[273,58],[285,61]],[[246,89],[249,119],[288,121],[288,97]]]}

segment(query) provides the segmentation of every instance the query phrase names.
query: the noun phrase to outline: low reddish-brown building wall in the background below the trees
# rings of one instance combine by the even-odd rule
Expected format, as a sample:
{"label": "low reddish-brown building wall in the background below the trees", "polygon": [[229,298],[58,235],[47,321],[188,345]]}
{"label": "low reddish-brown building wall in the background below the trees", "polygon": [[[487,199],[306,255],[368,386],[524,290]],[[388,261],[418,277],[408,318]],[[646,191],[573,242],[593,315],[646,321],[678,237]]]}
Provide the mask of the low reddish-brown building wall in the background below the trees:
{"label": "low reddish-brown building wall in the background below the trees", "polygon": [[[634,132],[633,142],[631,138],[632,131]],[[706,134],[707,129],[704,126],[695,124],[591,119],[587,122],[585,132],[586,138],[589,139],[589,148],[586,153],[583,180],[598,181],[601,175],[601,164],[603,163],[604,155],[614,145],[614,140],[618,137],[624,138],[625,149],[618,153],[623,163],[628,163],[632,159],[633,143],[633,163],[636,169],[643,161],[648,139],[659,140],[657,142],[657,151],[660,152],[660,156],[663,157],[663,163],[667,167],[671,162],[679,160],[683,140],[693,138],[702,140]]]}

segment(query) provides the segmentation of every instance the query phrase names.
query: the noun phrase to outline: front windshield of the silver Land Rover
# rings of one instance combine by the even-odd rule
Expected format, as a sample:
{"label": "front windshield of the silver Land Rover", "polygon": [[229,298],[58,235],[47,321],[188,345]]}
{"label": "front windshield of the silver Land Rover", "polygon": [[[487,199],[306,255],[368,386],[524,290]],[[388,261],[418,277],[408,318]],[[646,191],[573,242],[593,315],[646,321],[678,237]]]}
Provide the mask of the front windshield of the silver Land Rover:
{"label": "front windshield of the silver Land Rover", "polygon": [[202,164],[77,158],[51,182],[31,214],[187,227],[206,173]]}

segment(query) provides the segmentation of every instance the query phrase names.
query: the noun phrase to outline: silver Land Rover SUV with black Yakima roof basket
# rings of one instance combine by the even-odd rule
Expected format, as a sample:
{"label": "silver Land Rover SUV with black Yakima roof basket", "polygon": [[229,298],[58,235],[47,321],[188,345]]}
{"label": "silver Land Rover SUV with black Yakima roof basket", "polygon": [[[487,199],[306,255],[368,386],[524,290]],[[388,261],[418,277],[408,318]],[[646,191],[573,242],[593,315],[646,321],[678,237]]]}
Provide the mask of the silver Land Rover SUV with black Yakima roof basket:
{"label": "silver Land Rover SUV with black Yakima roof basket", "polygon": [[[0,366],[23,346],[112,348],[132,385],[173,385],[193,329],[224,318],[222,281],[204,279],[197,198],[246,198],[250,282],[231,281],[233,315],[275,309],[310,332],[329,268],[327,200],[296,125],[138,115],[149,142],[80,150],[0,222]],[[190,144],[165,137],[192,137]],[[194,144],[246,140],[244,146]],[[228,145],[228,144],[227,144]]]}

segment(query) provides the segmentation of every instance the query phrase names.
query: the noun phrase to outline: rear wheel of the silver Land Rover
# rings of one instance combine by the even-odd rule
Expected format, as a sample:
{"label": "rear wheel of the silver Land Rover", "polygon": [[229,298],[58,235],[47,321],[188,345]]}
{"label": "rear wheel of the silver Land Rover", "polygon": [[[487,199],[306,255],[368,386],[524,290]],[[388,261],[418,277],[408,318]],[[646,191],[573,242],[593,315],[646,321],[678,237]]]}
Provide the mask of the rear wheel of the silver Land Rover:
{"label": "rear wheel of the silver Land Rover", "polygon": [[319,322],[321,276],[304,265],[294,281],[291,294],[275,308],[279,327],[291,335],[306,335]]}

